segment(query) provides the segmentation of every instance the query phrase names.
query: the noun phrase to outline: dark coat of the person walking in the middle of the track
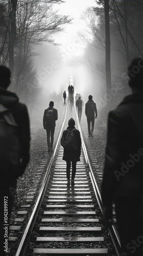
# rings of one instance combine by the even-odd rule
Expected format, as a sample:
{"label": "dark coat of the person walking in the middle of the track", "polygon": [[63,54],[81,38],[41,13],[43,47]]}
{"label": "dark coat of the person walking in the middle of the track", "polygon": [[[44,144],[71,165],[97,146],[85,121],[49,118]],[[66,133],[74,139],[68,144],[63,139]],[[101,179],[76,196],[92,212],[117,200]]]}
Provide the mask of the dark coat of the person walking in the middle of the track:
{"label": "dark coat of the person walking in the middle of the track", "polygon": [[[68,126],[67,129],[69,129],[70,131],[75,129],[75,126]],[[68,131],[65,130],[63,131],[63,134],[62,134],[62,138],[61,138],[61,145],[63,146],[64,148],[64,152],[63,152],[63,160],[65,161],[80,161],[80,155],[81,155],[81,137],[80,137],[80,132],[76,129],[73,131],[76,139],[77,139],[77,150],[70,150],[70,151],[67,151],[65,150],[65,138],[66,138],[66,135],[68,134]]]}

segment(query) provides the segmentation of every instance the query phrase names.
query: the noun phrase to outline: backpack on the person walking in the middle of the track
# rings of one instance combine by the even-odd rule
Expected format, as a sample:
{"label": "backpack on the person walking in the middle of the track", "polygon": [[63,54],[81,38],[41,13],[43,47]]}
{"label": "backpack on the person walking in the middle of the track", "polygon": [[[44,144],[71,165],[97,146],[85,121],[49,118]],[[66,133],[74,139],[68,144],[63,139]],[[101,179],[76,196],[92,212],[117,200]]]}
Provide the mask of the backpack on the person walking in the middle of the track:
{"label": "backpack on the person walking in the middle of the track", "polygon": [[75,128],[73,130],[68,130],[68,134],[65,138],[65,148],[66,150],[77,150],[77,139],[73,133],[73,131],[76,130]]}

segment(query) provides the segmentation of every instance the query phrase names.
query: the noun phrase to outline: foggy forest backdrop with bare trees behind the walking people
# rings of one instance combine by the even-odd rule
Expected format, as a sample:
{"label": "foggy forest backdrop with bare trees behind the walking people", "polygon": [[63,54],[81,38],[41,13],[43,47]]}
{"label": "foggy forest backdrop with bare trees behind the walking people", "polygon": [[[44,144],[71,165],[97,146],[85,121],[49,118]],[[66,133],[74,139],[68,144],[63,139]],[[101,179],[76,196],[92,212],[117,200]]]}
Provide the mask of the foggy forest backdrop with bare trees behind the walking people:
{"label": "foggy forest backdrop with bare trees behind the walking people", "polygon": [[10,90],[27,104],[31,126],[42,126],[50,100],[63,103],[73,76],[105,129],[108,111],[131,93],[127,67],[142,56],[142,7],[142,0],[0,1],[1,65],[11,69]]}

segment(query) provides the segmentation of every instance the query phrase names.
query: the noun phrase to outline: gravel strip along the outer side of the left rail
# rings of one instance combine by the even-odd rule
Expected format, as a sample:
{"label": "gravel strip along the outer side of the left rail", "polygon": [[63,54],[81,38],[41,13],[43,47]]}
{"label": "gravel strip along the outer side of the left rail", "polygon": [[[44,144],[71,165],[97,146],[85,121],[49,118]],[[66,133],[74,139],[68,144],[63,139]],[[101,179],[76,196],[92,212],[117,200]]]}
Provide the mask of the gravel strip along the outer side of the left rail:
{"label": "gravel strip along the outer side of the left rail", "polygon": [[[64,118],[64,111],[66,105],[64,104],[56,104],[55,108],[58,109],[58,120],[56,121],[56,129],[54,136],[54,145],[58,138],[58,134],[60,131],[60,127]],[[44,110],[43,110],[44,111]],[[20,226],[20,231],[12,231],[10,230],[10,237],[17,237],[20,239],[21,234],[31,216],[32,209],[35,204],[35,200],[39,194],[39,189],[41,187],[44,174],[46,172],[47,166],[49,165],[52,153],[47,154],[47,144],[46,144],[46,132],[42,126],[42,118],[41,123],[37,123],[36,126],[31,126],[31,150],[30,150],[30,162],[25,170],[25,173],[19,177],[17,181],[17,189],[14,198],[13,210],[10,218],[10,225]],[[38,175],[37,170],[41,168],[41,162],[44,160],[45,154],[47,154],[47,162],[45,166],[41,169],[40,175]],[[29,208],[21,207],[22,205],[30,205]],[[28,213],[26,215],[18,215],[18,210],[26,210]],[[23,218],[23,222],[16,222],[15,218]],[[9,256],[13,255],[15,252],[15,248],[17,244],[9,242],[9,248],[11,249],[11,253]]]}

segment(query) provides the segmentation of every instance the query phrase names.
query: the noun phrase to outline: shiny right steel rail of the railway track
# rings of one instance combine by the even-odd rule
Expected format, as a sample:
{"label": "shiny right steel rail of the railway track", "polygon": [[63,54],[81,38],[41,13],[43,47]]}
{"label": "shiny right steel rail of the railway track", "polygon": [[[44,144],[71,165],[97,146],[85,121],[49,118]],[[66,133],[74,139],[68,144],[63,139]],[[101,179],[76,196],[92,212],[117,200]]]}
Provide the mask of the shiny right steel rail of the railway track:
{"label": "shiny right steel rail of the railway track", "polygon": [[[85,146],[85,143],[84,143],[84,139],[83,139],[83,135],[82,135],[82,131],[81,131],[81,126],[80,126],[80,122],[79,122],[79,118],[78,118],[78,114],[77,114],[77,110],[76,110],[76,105],[75,105],[75,104],[74,104],[74,107],[75,107],[75,112],[76,112],[76,118],[77,118],[77,123],[78,123],[78,129],[79,129],[80,135],[81,135],[82,148],[83,148],[85,160],[86,160],[86,163],[87,163],[87,165],[89,166],[89,169],[90,169],[89,176],[90,176],[90,179],[91,179],[91,182],[92,182],[92,186],[93,186],[94,193],[95,193],[95,195],[96,195],[96,198],[97,198],[99,207],[100,207],[101,212],[102,212],[102,215],[103,215],[103,203],[102,203],[101,193],[100,193],[100,190],[99,190],[99,187],[98,187],[98,183],[97,183],[97,181],[96,181],[96,178],[95,178],[95,176],[94,176],[94,173],[93,173],[93,170],[92,170],[92,166],[91,166],[90,161],[89,161],[89,157],[88,157],[87,150],[86,150],[86,146]],[[115,225],[112,223],[111,220],[109,220],[108,231],[109,231],[109,233],[110,233],[110,237],[111,237],[112,242],[113,242],[113,244],[114,244],[114,247],[115,247],[117,256],[120,256],[120,254],[121,254],[121,253],[120,253],[120,252],[121,252],[120,237],[118,236],[118,232],[117,232],[117,230],[116,230],[116,227],[115,227]]]}

